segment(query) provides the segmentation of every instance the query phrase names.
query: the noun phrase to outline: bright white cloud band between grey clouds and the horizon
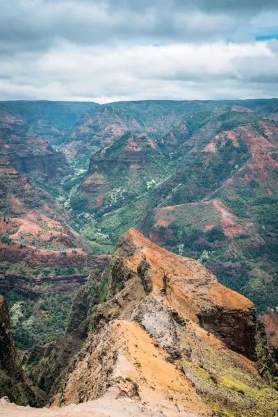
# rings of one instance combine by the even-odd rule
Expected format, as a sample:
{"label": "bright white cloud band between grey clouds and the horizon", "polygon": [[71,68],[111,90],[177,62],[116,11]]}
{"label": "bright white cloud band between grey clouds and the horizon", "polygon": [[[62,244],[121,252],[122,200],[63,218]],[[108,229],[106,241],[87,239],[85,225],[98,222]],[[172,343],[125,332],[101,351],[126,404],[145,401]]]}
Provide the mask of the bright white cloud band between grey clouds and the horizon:
{"label": "bright white cloud band between grey clouds and the horizon", "polygon": [[[1,99],[235,99],[278,95],[277,40],[73,47],[3,60]],[[263,63],[263,65],[261,65]]]}

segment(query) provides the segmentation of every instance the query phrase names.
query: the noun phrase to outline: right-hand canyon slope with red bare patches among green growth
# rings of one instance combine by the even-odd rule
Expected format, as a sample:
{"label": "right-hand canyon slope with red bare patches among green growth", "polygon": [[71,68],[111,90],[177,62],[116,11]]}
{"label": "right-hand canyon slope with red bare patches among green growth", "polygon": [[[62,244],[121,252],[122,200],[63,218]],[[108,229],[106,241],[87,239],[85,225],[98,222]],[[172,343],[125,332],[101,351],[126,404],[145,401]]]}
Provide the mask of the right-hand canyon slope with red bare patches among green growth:
{"label": "right-hand canyon slope with red bare patches among green growth", "polygon": [[185,169],[153,197],[162,198],[150,236],[181,254],[203,254],[224,284],[262,311],[277,305],[277,127],[250,120],[222,131],[201,152],[193,148]]}

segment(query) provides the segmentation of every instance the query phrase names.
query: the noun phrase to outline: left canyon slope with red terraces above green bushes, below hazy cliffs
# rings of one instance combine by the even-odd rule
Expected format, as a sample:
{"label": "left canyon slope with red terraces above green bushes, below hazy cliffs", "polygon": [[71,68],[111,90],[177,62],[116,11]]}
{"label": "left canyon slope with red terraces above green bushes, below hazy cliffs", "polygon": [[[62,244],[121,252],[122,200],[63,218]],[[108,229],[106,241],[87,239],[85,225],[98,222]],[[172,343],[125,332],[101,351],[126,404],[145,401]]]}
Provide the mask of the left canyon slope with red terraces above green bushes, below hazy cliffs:
{"label": "left canyon slope with red terraces above green bushes, below hazy cliffs", "polygon": [[0,140],[0,291],[15,342],[28,350],[65,332],[72,295],[109,257],[95,256],[72,215],[10,165],[12,142]]}

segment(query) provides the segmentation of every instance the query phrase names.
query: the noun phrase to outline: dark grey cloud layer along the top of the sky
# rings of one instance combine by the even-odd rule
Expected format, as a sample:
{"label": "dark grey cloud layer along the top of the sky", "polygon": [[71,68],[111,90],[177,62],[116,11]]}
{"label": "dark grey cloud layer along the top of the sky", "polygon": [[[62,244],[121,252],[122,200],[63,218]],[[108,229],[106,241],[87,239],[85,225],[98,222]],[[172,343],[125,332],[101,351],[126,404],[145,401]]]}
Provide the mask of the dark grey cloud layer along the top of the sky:
{"label": "dark grey cloud layer along the top of the sky", "polygon": [[0,51],[17,54],[61,40],[89,45],[246,38],[248,28],[254,35],[252,17],[278,13],[278,6],[275,0],[0,0],[0,10]]}

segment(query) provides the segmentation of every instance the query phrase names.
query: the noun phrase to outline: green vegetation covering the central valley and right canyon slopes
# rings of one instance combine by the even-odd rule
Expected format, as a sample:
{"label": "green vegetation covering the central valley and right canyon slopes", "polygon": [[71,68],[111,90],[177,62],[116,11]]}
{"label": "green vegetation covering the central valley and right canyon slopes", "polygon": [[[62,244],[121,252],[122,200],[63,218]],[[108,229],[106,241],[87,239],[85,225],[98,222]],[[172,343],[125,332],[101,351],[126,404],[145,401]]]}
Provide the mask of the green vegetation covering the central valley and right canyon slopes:
{"label": "green vegetation covering the central valley and right canyon slopes", "polygon": [[[137,104],[115,104],[113,109],[117,111],[119,106],[136,112],[138,109]],[[157,111],[153,103],[149,106],[154,113]],[[187,104],[182,106],[184,111]],[[148,108],[147,103],[142,104],[142,108],[145,107]],[[244,135],[236,130],[240,126],[265,137],[260,120],[256,113],[198,103],[183,117],[181,124],[172,129],[176,147],[172,137],[167,135],[163,143],[159,142],[158,149],[147,149],[147,143],[138,142],[149,158],[147,170],[126,170],[124,166],[117,169],[124,143],[129,138],[129,133],[126,134],[106,150],[106,158],[117,161],[116,165],[104,163],[101,168],[102,165],[98,165],[100,153],[91,161],[92,166],[95,161],[104,179],[104,185],[99,188],[99,194],[105,196],[104,204],[88,208],[95,197],[81,192],[81,188],[72,196],[71,206],[78,215],[93,215],[82,219],[81,234],[90,240],[96,253],[109,253],[117,238],[129,227],[145,233],[155,231],[167,249],[206,263],[222,284],[250,297],[260,312],[267,306],[275,308],[278,248],[273,233],[278,229],[278,204],[273,184],[277,178],[270,167],[266,168],[267,181],[260,181],[256,170],[252,178],[245,165],[252,160],[250,147]],[[203,127],[194,150],[190,138],[199,134]],[[223,136],[215,141],[215,153],[201,152],[213,136],[222,131],[234,131],[236,139]],[[252,178],[249,182],[243,181],[245,171]],[[234,185],[226,186],[231,178]],[[236,216],[234,224],[242,227],[242,233],[239,231],[230,237],[224,234],[220,213],[209,203],[213,199],[220,200]],[[190,203],[194,204],[179,208],[181,204]],[[170,210],[163,214],[169,225],[154,227],[156,209],[163,206],[175,206],[173,213]],[[174,221],[168,223],[172,215]],[[211,230],[205,229],[207,225],[213,226]],[[172,235],[167,234],[167,229]]]}

